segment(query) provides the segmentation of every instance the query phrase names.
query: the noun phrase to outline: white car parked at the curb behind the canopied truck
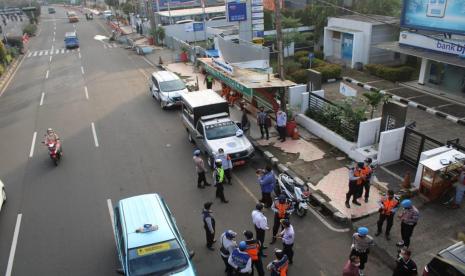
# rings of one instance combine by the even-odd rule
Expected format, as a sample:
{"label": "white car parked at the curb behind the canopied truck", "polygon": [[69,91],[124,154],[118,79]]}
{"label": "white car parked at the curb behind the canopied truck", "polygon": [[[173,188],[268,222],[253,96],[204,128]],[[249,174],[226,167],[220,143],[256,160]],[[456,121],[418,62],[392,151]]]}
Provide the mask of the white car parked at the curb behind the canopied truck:
{"label": "white car parked at the curb behind the canopied truck", "polygon": [[186,84],[173,72],[153,72],[149,81],[152,97],[160,102],[162,109],[181,105],[181,96],[187,93]]}

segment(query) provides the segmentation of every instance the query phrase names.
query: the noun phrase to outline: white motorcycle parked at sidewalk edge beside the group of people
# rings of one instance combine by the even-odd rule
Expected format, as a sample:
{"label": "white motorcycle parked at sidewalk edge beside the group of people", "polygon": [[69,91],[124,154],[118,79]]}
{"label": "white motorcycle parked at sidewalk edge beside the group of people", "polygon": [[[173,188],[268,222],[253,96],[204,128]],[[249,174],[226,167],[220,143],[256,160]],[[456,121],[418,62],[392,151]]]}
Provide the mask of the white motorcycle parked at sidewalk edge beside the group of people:
{"label": "white motorcycle parked at sidewalk edge beside the group of people", "polygon": [[293,204],[294,213],[303,217],[310,208],[310,188],[307,184],[298,184],[287,174],[281,173],[278,176],[275,194],[284,194]]}

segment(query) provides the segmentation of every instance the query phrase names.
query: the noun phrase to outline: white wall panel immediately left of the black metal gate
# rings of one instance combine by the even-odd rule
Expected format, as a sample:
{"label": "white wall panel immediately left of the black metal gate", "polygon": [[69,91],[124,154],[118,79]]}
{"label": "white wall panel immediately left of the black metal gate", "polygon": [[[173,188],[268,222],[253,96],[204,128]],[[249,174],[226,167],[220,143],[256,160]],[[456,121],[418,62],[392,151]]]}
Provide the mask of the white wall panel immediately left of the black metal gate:
{"label": "white wall panel immediately left of the black metal gate", "polygon": [[378,164],[385,164],[400,159],[405,127],[381,132],[378,145]]}

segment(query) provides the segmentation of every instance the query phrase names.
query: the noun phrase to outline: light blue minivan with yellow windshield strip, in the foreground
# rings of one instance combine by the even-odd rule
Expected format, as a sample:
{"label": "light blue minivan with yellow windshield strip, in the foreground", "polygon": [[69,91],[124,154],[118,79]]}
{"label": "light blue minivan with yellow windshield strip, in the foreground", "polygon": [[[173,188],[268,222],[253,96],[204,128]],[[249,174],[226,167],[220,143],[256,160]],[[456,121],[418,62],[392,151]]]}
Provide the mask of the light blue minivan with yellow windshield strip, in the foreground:
{"label": "light blue minivan with yellow windshield strip, in the foreground", "polygon": [[123,275],[195,276],[193,252],[176,220],[158,194],[119,201],[114,210],[114,232]]}

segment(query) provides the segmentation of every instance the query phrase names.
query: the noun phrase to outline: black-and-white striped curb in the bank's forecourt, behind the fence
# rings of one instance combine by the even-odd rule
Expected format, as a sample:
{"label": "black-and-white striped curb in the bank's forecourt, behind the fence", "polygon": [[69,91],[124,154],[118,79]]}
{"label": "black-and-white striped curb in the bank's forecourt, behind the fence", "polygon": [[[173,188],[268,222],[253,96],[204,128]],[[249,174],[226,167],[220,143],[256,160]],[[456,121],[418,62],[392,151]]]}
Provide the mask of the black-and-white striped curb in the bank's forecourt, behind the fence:
{"label": "black-and-white striped curb in the bank's forecourt, behind the fence", "polygon": [[438,111],[438,110],[436,110],[434,108],[427,107],[425,105],[419,104],[417,102],[411,101],[411,100],[403,98],[403,97],[399,97],[397,95],[394,95],[392,93],[387,92],[386,90],[378,89],[378,88],[376,88],[374,86],[371,86],[371,85],[368,85],[366,83],[360,82],[360,81],[358,81],[356,79],[353,79],[351,77],[342,77],[342,79],[347,81],[348,83],[352,83],[352,84],[355,84],[355,85],[357,85],[359,87],[362,87],[365,90],[368,90],[368,91],[371,91],[371,92],[379,92],[381,94],[388,95],[393,100],[395,100],[397,102],[400,102],[400,103],[406,104],[408,106],[411,106],[411,107],[426,111],[426,112],[428,112],[430,114],[435,115],[436,117],[449,120],[449,121],[451,121],[453,123],[456,123],[458,125],[465,126],[465,119],[460,119],[460,118],[457,118],[455,116],[452,116],[452,115],[446,114],[444,112]]}

